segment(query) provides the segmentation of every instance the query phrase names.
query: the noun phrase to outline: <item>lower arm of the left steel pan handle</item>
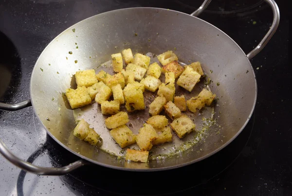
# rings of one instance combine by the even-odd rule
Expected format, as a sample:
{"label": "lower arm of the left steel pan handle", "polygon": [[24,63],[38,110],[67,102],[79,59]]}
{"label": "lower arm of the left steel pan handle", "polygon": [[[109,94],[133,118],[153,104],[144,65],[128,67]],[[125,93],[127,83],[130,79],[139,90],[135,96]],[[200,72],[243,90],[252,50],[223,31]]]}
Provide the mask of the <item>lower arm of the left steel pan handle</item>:
{"label": "lower arm of the left steel pan handle", "polygon": [[7,149],[6,145],[3,143],[1,139],[0,139],[0,153],[7,160],[9,160],[11,163],[16,165],[17,167],[27,172],[31,172],[38,175],[48,175],[48,176],[64,175],[88,163],[88,161],[86,160],[77,160],[69,165],[66,165],[60,168],[39,167],[16,157],[10,150]]}

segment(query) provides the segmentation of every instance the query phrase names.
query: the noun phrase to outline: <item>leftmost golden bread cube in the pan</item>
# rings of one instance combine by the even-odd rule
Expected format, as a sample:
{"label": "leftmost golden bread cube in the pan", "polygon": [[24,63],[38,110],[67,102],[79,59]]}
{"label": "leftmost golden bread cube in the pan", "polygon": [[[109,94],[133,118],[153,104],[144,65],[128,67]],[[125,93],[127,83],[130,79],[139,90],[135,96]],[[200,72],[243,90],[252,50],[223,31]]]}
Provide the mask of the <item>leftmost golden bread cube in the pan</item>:
{"label": "leftmost golden bread cube in the pan", "polygon": [[91,104],[91,97],[85,86],[67,89],[66,97],[72,109]]}

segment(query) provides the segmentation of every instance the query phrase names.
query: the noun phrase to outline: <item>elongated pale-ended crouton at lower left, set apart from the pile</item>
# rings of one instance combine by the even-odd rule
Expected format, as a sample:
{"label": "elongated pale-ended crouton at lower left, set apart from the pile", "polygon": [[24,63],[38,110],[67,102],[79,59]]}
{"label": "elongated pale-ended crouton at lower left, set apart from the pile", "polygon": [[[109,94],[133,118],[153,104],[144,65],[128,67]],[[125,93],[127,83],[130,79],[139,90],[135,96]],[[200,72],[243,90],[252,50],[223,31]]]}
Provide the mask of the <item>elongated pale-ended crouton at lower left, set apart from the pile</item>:
{"label": "elongated pale-ended crouton at lower left, set apart from the pile", "polygon": [[84,119],[81,119],[78,122],[73,130],[73,135],[94,146],[99,145],[102,142],[100,136],[92,128],[89,128],[89,124]]}

